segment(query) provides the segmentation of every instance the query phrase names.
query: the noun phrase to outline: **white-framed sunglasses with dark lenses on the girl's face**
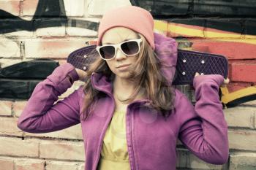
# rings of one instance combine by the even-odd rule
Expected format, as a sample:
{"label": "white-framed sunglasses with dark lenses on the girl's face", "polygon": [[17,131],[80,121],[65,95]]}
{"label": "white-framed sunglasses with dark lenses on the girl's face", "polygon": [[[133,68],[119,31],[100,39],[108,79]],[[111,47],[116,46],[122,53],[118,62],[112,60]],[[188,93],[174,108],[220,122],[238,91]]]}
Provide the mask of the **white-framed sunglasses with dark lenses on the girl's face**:
{"label": "white-framed sunglasses with dark lenses on the girl's face", "polygon": [[96,47],[97,52],[103,60],[112,60],[116,57],[116,48],[118,47],[124,55],[131,56],[140,53],[140,42],[142,39],[130,39],[116,45],[102,45]]}

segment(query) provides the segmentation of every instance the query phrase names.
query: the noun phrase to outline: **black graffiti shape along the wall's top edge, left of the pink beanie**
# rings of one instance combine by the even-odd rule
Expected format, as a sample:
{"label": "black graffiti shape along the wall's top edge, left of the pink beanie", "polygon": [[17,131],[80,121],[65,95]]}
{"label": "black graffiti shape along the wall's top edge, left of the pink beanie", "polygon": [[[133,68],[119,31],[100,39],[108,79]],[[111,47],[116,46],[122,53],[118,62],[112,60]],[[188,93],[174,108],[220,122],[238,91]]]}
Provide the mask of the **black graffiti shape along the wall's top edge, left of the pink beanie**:
{"label": "black graffiti shape along the wall's top edge, left of the pink beanie", "polygon": [[73,26],[97,31],[98,23],[67,18],[63,0],[39,0],[32,20],[23,20],[0,9],[0,34],[35,31],[37,28]]}

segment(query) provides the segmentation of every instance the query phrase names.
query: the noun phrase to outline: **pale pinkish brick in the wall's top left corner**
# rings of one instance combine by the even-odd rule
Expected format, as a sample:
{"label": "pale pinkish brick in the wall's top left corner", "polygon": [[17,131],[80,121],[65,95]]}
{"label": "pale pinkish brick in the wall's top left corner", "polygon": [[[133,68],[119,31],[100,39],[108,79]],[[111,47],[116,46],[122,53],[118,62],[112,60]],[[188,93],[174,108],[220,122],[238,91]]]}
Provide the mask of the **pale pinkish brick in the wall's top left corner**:
{"label": "pale pinkish brick in the wall's top left corner", "polygon": [[4,9],[5,12],[9,12],[11,15],[18,16],[20,14],[20,1],[0,1],[0,9]]}

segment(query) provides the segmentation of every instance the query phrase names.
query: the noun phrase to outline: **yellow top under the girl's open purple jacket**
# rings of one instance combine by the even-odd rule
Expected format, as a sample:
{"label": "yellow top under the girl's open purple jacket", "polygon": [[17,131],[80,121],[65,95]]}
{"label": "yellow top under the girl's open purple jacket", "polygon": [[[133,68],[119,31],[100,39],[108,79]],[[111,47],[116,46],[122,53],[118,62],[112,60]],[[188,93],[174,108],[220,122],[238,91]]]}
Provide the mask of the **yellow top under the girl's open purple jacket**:
{"label": "yellow top under the girl's open purple jacket", "polygon": [[130,170],[125,117],[126,112],[114,112],[103,139],[98,170]]}

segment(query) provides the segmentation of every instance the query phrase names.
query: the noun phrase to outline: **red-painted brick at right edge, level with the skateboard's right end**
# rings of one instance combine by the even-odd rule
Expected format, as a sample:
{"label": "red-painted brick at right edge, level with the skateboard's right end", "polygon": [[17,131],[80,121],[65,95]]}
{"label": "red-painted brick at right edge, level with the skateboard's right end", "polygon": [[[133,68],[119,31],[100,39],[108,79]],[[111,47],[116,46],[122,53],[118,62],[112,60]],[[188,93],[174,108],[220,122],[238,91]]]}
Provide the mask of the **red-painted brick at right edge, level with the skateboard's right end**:
{"label": "red-painted brick at right edge, level with the skateboard's right end", "polygon": [[256,60],[232,63],[230,78],[232,81],[256,82]]}

